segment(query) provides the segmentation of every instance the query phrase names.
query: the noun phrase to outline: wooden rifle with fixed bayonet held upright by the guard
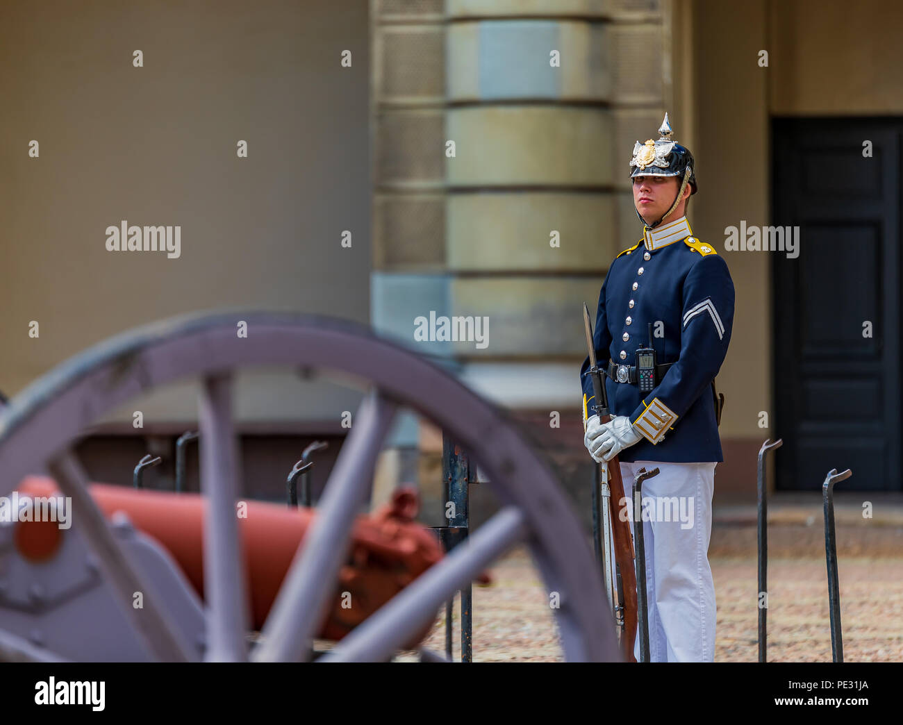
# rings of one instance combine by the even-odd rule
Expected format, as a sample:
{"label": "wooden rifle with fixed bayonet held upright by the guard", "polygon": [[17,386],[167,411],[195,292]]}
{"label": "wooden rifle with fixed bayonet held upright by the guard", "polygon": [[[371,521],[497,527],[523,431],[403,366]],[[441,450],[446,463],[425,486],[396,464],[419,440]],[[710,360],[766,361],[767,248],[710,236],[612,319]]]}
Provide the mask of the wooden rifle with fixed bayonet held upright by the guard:
{"label": "wooden rifle with fixed bayonet held upright by the guard", "polygon": [[[609,414],[608,398],[605,395],[605,381],[602,378],[602,371],[596,364],[596,349],[592,341],[592,324],[590,321],[590,308],[583,302],[583,327],[586,332],[586,345],[590,351],[590,369],[588,374],[592,380],[592,392],[595,404],[592,410],[599,415],[601,423],[608,423],[611,420]],[[621,507],[628,507],[629,501],[624,496],[624,481],[621,479],[620,463],[618,457],[615,456],[607,463],[600,463],[600,483],[599,486],[593,487],[593,539],[596,547],[597,556],[600,555],[600,549],[604,548],[602,562],[604,564],[605,590],[609,592],[609,601],[616,600],[617,606],[614,607],[615,623],[620,628],[620,641],[623,648],[624,659],[628,662],[636,662],[633,656],[633,644],[637,636],[637,572],[634,569],[634,552],[633,538],[630,535],[630,522],[627,516],[619,516]],[[608,506],[602,511],[602,516],[608,519],[605,528],[606,541],[604,546],[599,545],[598,530],[598,497],[601,489],[603,497],[608,498]],[[606,494],[610,494],[607,495]],[[629,509],[628,509],[629,510]],[[611,542],[608,538],[611,538]],[[616,598],[612,597],[611,569],[610,563],[607,561],[609,552],[613,544],[616,562],[616,578],[614,583],[614,591],[617,592]],[[645,562],[643,564],[645,566]],[[623,590],[623,592],[621,591]]]}

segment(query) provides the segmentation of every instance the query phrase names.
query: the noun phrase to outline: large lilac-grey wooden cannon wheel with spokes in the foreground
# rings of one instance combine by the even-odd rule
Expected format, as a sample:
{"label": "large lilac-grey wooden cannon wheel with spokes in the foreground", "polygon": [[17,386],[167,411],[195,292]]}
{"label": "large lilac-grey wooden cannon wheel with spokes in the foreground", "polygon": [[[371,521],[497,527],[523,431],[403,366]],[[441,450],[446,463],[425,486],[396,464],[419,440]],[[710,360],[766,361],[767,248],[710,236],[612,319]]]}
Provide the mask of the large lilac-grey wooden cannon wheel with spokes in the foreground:
{"label": "large lilac-grey wooden cannon wheel with spokes in the foreground", "polygon": [[[247,322],[247,337],[237,323]],[[235,500],[240,460],[231,416],[231,371],[281,365],[338,371],[368,389],[330,473],[320,516],[287,573],[261,632],[248,650],[246,581],[240,566]],[[39,378],[0,415],[0,496],[29,473],[49,468],[100,568],[149,652],[163,661],[196,658],[169,624],[164,602],[110,533],[68,452],[88,424],[135,395],[185,377],[203,381],[199,400],[200,480],[208,501],[204,530],[207,650],[212,661],[306,658],[337,581],[354,516],[365,501],[377,454],[396,410],[405,405],[449,432],[480,467],[501,508],[319,661],[385,661],[435,617],[442,602],[490,562],[526,543],[549,592],[563,652],[574,661],[619,660],[600,577],[582,525],[545,463],[504,415],[440,367],[346,321],[275,312],[191,315],[128,331],[80,353]],[[324,584],[329,582],[330,586]],[[130,606],[144,591],[144,609]],[[16,633],[13,633],[14,635]],[[423,658],[443,660],[423,652]]]}

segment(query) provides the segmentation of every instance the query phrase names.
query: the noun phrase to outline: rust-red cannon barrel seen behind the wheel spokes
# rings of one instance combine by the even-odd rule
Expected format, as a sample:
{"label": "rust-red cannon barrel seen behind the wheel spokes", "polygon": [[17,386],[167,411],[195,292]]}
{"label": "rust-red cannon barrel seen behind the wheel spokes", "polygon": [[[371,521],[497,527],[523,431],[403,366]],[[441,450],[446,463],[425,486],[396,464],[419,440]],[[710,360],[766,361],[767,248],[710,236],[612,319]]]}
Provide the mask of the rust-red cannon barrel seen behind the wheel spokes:
{"label": "rust-red cannon barrel seen behind the wheel spokes", "polygon": [[[30,497],[60,495],[53,479],[39,476],[24,479],[18,491]],[[104,516],[111,518],[122,511],[135,528],[163,545],[203,597],[203,497],[99,483],[91,484],[88,491]],[[253,626],[258,629],[263,626],[317,511],[307,507],[286,509],[264,501],[244,504],[237,512],[238,528]],[[436,536],[413,520],[418,506],[414,489],[399,488],[391,503],[371,516],[358,516],[320,637],[341,639],[442,558],[442,545]],[[56,525],[41,524],[20,523],[32,527],[32,533],[17,538],[27,541],[31,551],[46,558],[48,553],[52,555],[57,537],[66,532],[60,532]],[[428,631],[429,627],[418,633],[408,646],[413,647]]]}

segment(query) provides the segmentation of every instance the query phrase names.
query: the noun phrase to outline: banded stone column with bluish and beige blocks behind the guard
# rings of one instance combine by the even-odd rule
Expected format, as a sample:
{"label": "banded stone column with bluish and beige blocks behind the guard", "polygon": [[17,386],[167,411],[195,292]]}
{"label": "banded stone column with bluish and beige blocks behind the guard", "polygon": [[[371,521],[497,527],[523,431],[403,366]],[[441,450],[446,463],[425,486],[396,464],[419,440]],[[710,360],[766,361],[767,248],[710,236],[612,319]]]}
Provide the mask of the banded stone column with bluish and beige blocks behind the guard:
{"label": "banded stone column with bluish and beige blocks behind the guard", "polygon": [[[662,0],[371,4],[374,325],[546,432],[580,407],[581,304],[641,236],[629,153],[673,100],[670,14]],[[488,318],[486,346],[415,341],[431,311]]]}

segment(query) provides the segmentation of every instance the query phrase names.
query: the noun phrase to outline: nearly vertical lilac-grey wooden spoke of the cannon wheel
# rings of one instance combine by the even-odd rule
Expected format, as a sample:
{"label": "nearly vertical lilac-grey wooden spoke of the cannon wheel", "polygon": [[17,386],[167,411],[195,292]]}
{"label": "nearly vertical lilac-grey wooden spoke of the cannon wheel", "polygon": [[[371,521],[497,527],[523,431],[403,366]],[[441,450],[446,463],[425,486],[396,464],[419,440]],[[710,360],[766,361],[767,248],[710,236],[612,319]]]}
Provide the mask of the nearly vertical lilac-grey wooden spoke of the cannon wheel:
{"label": "nearly vertical lilac-grey wooden spoke of the cannon wheel", "polygon": [[204,378],[198,411],[200,489],[204,495],[204,599],[207,655],[214,662],[247,661],[249,605],[235,502],[240,478],[232,425],[232,378]]}

